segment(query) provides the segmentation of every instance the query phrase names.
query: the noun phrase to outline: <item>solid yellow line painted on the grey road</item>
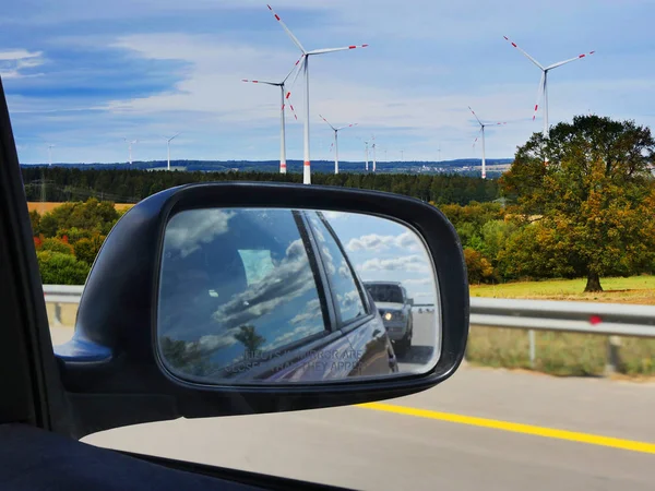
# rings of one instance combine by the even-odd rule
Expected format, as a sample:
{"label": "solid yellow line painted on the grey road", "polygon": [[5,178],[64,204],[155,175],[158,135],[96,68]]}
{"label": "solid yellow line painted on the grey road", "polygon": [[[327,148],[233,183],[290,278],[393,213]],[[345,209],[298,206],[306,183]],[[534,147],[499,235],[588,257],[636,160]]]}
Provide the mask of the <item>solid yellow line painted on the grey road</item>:
{"label": "solid yellow line painted on the grey road", "polygon": [[556,430],[552,428],[535,427],[533,424],[521,424],[496,419],[476,418],[473,416],[455,415],[452,412],[430,411],[413,407],[395,406],[383,403],[360,404],[359,407],[377,411],[394,412],[396,415],[415,416],[417,418],[438,419],[440,421],[468,424],[480,428],[492,428],[496,430],[511,431],[513,433],[532,434],[547,439],[568,440],[570,442],[587,443],[591,445],[609,446],[645,454],[655,454],[655,443],[638,442],[634,440],[615,439],[599,434],[579,433],[576,431]]}

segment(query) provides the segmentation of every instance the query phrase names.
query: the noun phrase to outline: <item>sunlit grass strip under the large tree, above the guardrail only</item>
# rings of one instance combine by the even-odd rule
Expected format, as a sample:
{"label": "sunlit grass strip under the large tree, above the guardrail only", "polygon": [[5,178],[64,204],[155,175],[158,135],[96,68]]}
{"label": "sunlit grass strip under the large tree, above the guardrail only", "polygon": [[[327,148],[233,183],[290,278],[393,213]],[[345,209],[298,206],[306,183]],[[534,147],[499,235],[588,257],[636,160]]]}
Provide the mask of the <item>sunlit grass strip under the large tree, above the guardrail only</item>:
{"label": "sunlit grass strip under the large tree, above the guardrail only", "polygon": [[585,285],[583,278],[474,285],[471,296],[655,304],[655,276],[600,278],[605,291],[599,294],[584,294]]}

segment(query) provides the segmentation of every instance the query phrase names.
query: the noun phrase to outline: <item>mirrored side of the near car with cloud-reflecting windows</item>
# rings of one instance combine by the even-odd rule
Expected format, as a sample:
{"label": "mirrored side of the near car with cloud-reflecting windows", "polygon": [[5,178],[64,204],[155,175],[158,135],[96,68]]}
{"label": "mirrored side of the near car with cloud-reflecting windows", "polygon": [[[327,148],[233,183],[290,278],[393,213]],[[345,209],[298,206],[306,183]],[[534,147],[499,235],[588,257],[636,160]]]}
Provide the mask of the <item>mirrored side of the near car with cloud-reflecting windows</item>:
{"label": "mirrored side of the near car with cloud-reflecting windows", "polygon": [[179,214],[160,274],[158,337],[178,375],[306,382],[397,371],[381,315],[320,212]]}

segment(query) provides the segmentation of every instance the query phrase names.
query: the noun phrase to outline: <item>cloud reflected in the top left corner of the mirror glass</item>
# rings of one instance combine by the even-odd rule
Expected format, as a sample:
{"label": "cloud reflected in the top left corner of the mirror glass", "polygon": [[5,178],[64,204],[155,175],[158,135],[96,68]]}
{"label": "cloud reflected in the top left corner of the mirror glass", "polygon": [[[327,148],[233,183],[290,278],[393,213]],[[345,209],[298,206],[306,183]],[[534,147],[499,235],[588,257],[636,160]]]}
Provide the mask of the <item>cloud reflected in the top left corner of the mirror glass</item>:
{"label": "cloud reflected in the top left corner of the mirror glass", "polygon": [[222,209],[193,209],[174,216],[166,227],[166,249],[180,251],[182,258],[210,243],[216,236],[227,232],[234,212]]}

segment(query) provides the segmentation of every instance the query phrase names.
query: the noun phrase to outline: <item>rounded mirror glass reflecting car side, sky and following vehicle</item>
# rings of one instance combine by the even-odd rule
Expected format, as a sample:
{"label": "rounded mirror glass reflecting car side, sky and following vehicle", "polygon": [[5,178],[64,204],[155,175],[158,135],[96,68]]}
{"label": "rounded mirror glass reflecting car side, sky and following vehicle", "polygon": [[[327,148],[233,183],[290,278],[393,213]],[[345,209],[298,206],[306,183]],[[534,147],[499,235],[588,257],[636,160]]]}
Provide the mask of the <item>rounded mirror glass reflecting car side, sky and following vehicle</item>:
{"label": "rounded mirror glass reflecting car side, sky and following vehicle", "polygon": [[422,238],[357,213],[174,215],[159,272],[159,359],[202,383],[315,383],[434,367],[440,309]]}

